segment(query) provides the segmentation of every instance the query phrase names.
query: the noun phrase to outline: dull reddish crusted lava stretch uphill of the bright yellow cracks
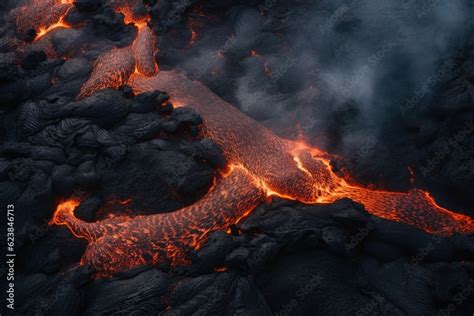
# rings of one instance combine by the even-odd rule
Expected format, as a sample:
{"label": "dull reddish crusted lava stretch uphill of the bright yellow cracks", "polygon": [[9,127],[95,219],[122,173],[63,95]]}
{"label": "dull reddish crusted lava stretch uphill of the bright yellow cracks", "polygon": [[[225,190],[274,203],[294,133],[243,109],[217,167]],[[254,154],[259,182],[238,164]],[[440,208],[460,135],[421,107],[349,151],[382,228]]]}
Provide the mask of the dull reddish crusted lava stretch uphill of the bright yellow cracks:
{"label": "dull reddish crusted lava stretch uphill of the bright yellow cracks", "polygon": [[161,71],[149,78],[134,76],[129,84],[136,92],[163,89],[195,109],[205,121],[204,134],[221,146],[226,159],[258,175],[271,191],[306,203],[315,201],[311,175],[296,168],[288,153],[290,142],[276,137],[202,84],[175,71]]}

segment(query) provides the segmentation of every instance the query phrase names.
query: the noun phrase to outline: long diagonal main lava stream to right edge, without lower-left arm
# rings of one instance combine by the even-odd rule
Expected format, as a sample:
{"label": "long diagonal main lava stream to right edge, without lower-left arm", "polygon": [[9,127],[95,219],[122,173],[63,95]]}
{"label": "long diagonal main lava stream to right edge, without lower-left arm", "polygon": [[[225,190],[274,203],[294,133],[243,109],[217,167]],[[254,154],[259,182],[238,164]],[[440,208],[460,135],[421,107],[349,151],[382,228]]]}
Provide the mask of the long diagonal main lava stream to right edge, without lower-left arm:
{"label": "long diagonal main lava stream to right edge, without lower-left arm", "polygon": [[275,136],[183,74],[162,71],[149,78],[134,76],[129,84],[136,92],[167,91],[194,108],[204,119],[204,134],[221,146],[229,162],[242,164],[254,175],[267,195],[304,203],[331,203],[347,197],[376,216],[430,233],[474,231],[470,217],[438,206],[427,192],[387,192],[347,183],[332,171],[326,153]]}

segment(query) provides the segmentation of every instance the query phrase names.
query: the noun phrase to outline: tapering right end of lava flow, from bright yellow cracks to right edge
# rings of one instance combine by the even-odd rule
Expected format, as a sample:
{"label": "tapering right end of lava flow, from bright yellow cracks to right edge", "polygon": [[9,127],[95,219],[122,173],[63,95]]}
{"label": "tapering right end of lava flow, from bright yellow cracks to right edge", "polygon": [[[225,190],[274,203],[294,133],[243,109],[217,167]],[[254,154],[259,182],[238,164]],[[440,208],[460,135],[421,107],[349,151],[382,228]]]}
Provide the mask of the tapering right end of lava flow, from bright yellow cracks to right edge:
{"label": "tapering right end of lava flow, from bright yellow cracks to right edge", "polygon": [[363,204],[375,216],[403,222],[426,232],[450,235],[474,231],[472,218],[439,206],[428,192],[418,189],[407,193],[389,192],[349,184],[332,171],[328,159],[301,148],[290,152],[298,161],[297,167],[313,177],[314,190],[318,191],[313,203],[332,203],[347,197]]}

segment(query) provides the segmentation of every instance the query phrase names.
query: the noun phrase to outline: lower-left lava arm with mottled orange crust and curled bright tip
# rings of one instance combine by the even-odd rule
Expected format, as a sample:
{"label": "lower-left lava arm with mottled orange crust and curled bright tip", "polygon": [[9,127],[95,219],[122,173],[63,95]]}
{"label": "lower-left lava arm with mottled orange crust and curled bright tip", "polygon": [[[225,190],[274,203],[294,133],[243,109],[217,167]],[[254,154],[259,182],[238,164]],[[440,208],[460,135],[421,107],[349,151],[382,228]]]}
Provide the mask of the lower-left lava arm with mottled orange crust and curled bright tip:
{"label": "lower-left lava arm with mottled orange crust and curled bright tip", "polygon": [[78,203],[71,200],[57,207],[52,223],[89,241],[81,263],[92,265],[99,276],[146,264],[184,264],[187,252],[199,249],[208,232],[238,222],[265,196],[245,168],[230,168],[200,201],[173,213],[87,223],[74,216]]}

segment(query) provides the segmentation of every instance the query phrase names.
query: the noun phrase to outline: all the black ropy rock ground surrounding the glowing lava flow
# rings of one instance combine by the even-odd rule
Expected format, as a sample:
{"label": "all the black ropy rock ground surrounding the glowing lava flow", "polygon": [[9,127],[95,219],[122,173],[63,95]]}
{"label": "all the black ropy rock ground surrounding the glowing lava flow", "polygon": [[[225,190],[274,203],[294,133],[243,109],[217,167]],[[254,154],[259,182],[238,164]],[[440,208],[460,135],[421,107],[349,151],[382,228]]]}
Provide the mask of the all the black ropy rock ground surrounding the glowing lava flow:
{"label": "all the black ropy rock ground surrounding the glowing lava flow", "polygon": [[[16,2],[0,3],[1,13]],[[81,265],[87,242],[64,226],[49,224],[62,199],[80,199],[75,214],[89,222],[170,212],[203,197],[226,166],[219,146],[199,134],[199,113],[173,108],[169,91],[134,95],[122,85],[77,99],[97,58],[112,47],[128,46],[136,35],[111,2],[77,0],[65,21],[80,28],[58,28],[40,41],[33,41],[37,32],[29,27],[18,33],[8,23],[0,27],[0,207],[15,205],[15,314],[472,314],[473,236],[431,235],[374,217],[348,199],[325,205],[268,200],[228,231],[211,232],[190,253],[190,263],[175,269],[158,264],[97,278],[90,266]],[[297,16],[305,11],[304,1],[298,9],[272,1],[263,6],[254,1],[134,2],[138,13],[147,5],[151,29],[160,34],[160,69],[184,68],[233,104],[239,104],[236,82],[245,79],[239,75],[247,67],[258,68],[259,83],[268,82],[265,63],[258,60],[286,47],[281,34],[298,28]],[[328,19],[333,11],[321,10]],[[190,44],[191,20],[208,18],[227,33],[197,27],[192,30],[201,31],[201,42]],[[343,37],[360,25],[348,14],[332,27]],[[323,39],[325,34],[329,32],[321,33]],[[227,42],[229,38],[233,40]],[[200,47],[217,42],[221,54],[202,66]],[[331,52],[345,50],[334,47],[338,41],[324,44]],[[419,182],[451,197],[437,198],[453,207],[458,203],[473,215],[474,134],[472,125],[466,125],[473,115],[471,51],[472,40],[438,83],[437,93],[411,110],[414,118],[403,117],[403,124],[393,119],[397,126],[382,131],[387,141],[369,142],[338,161],[340,171],[347,168],[363,182],[377,182],[383,174],[387,187],[406,189],[406,166],[414,163],[423,175]],[[198,62],[185,63],[191,58]],[[303,103],[307,95],[299,93],[295,79],[300,74],[290,71],[264,86],[272,94],[265,101],[272,100],[277,109],[283,92],[296,95],[292,102]],[[324,91],[317,99],[322,104],[332,102],[328,100]],[[265,111],[240,105],[272,125]],[[349,103],[321,119],[328,118],[337,153],[344,153],[339,136],[350,134],[358,115]],[[454,147],[449,145],[453,137],[459,144]],[[449,154],[435,163],[446,144]],[[4,249],[4,229],[0,236]],[[6,273],[0,264],[2,280]],[[1,293],[5,286],[2,281]],[[10,313],[3,300],[1,312]]]}

